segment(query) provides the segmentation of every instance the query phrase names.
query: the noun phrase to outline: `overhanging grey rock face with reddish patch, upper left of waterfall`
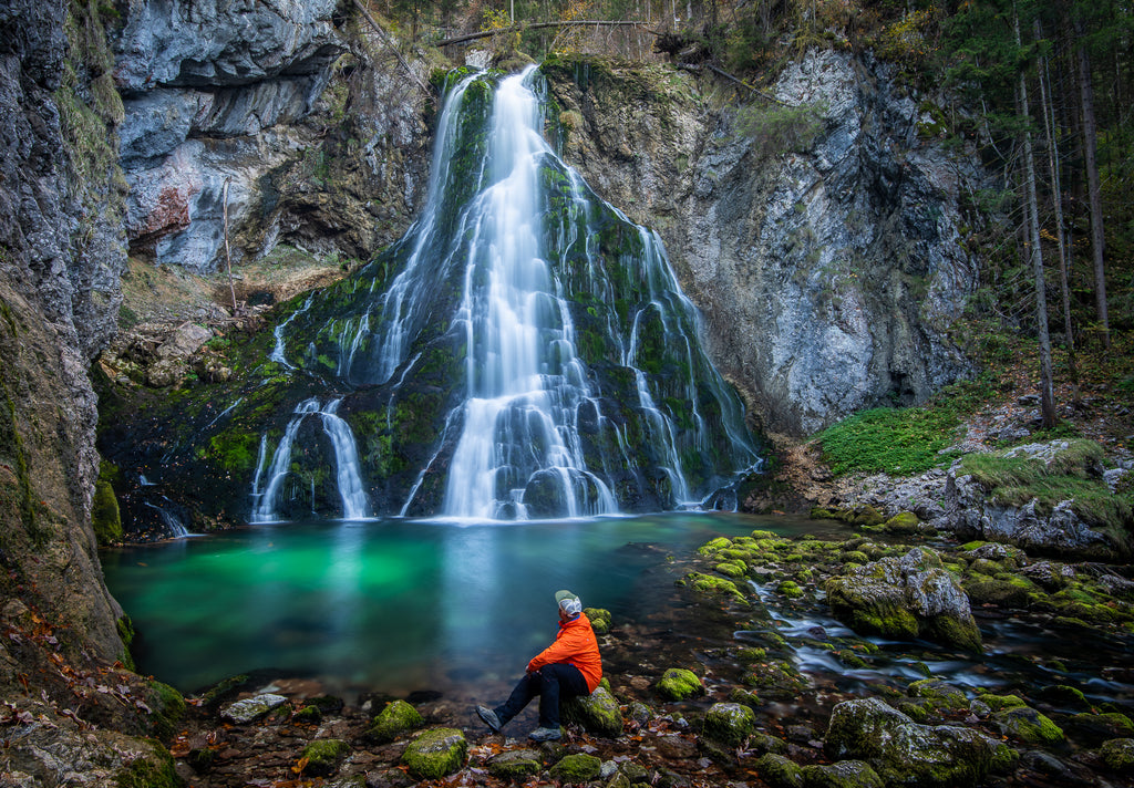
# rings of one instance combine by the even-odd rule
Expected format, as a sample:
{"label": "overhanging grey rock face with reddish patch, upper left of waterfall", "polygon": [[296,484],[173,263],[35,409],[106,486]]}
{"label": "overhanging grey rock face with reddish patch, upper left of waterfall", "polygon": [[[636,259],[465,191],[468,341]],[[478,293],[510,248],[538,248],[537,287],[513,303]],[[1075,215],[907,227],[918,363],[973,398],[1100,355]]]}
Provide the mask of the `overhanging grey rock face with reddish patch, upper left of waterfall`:
{"label": "overhanging grey rock face with reddish patch, upper left of waterfall", "polygon": [[[390,111],[375,108],[407,103],[396,95],[399,81],[382,85],[353,56],[339,61],[358,33],[347,28],[345,8],[340,0],[130,2],[113,45],[132,249],[159,264],[215,270],[225,260],[226,185],[236,261],[280,240],[366,256],[397,237],[383,236],[375,219],[391,202],[412,202],[424,177],[391,181],[379,170],[397,168],[415,146],[424,166],[424,146],[412,141],[424,130],[413,111],[420,98],[391,129]],[[353,99],[359,105],[348,118]],[[325,117],[305,120],[320,110]],[[375,147],[390,153],[381,167],[342,163],[371,159]]]}

